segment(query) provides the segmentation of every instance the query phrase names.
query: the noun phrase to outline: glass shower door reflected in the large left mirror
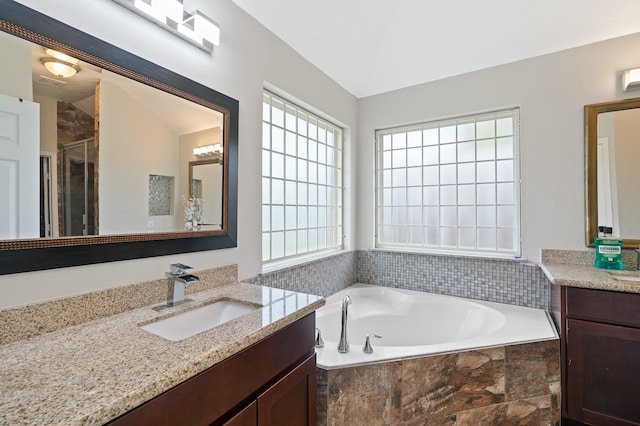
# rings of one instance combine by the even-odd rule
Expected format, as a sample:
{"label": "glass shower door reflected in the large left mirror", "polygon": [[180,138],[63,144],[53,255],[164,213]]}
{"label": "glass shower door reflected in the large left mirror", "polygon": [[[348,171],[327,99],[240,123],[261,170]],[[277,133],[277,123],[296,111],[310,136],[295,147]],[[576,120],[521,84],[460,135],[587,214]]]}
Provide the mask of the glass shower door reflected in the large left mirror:
{"label": "glass shower door reflected in the large left mirror", "polygon": [[62,149],[61,235],[95,235],[93,139],[65,145]]}

